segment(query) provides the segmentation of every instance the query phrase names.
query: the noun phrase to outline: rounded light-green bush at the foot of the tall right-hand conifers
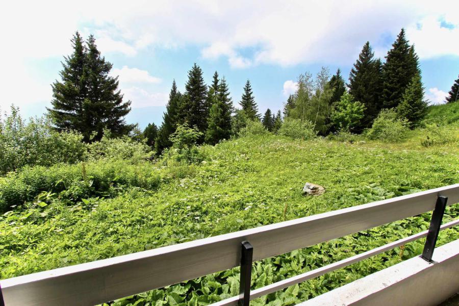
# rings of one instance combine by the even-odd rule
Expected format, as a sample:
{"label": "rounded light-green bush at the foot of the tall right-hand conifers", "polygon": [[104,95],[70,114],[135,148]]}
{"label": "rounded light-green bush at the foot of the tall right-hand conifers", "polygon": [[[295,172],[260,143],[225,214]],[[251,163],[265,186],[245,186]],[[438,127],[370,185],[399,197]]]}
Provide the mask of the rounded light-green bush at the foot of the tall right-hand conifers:
{"label": "rounded light-green bush at the foot of the tall right-hand conifers", "polygon": [[371,140],[397,142],[406,137],[408,125],[408,121],[398,118],[393,109],[381,110],[365,135]]}

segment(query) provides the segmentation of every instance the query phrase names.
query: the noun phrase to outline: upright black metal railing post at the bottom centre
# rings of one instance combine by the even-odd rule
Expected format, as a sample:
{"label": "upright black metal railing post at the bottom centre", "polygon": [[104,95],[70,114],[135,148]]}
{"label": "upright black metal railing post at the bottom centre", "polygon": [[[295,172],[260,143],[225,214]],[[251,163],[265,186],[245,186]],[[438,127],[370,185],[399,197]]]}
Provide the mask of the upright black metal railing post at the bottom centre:
{"label": "upright black metal railing post at the bottom centre", "polygon": [[242,242],[241,278],[239,281],[239,306],[249,306],[250,281],[252,278],[253,247],[248,241]]}

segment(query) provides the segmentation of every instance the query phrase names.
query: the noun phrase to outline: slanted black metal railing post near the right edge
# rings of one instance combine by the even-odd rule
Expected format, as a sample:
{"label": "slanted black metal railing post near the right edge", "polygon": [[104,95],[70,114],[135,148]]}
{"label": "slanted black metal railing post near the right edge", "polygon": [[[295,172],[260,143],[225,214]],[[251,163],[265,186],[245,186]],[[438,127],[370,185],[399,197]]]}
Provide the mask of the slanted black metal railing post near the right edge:
{"label": "slanted black metal railing post near the right edge", "polygon": [[447,201],[447,197],[439,195],[437,197],[437,202],[435,203],[435,208],[433,209],[429,231],[427,233],[424,250],[421,255],[421,258],[429,263],[432,262],[433,250],[435,249],[435,244],[437,243],[438,233],[440,232],[440,226],[442,225]]}

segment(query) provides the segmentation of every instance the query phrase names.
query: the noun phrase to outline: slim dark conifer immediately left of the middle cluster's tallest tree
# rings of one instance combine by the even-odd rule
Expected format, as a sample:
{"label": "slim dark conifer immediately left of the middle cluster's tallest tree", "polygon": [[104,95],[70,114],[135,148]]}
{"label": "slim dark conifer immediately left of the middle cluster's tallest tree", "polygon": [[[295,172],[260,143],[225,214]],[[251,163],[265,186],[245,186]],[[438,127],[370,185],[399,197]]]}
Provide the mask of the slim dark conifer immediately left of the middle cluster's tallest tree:
{"label": "slim dark conifer immediately left of the middle cluster's tallest tree", "polygon": [[172,145],[169,140],[170,135],[175,132],[177,127],[179,112],[181,109],[182,94],[177,89],[175,80],[172,82],[172,88],[169,93],[169,101],[166,105],[166,111],[163,115],[163,123],[158,131],[158,137],[155,140],[155,150],[157,154]]}

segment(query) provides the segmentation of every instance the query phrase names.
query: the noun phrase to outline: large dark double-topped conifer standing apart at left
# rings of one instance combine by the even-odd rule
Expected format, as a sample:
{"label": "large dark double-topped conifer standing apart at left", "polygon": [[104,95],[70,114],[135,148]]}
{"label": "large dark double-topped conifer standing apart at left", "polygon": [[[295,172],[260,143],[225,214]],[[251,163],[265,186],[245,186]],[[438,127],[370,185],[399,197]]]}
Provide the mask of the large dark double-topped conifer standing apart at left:
{"label": "large dark double-topped conifer standing apart at left", "polygon": [[109,76],[112,64],[105,61],[90,35],[86,47],[77,32],[72,39],[74,52],[65,58],[62,82],[53,84],[53,109],[48,109],[59,130],[73,129],[86,142],[100,140],[104,129],[113,136],[129,134],[134,128],[124,116],[131,101],[123,102],[118,78]]}

